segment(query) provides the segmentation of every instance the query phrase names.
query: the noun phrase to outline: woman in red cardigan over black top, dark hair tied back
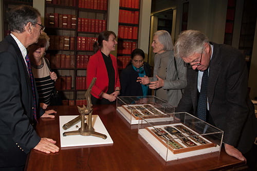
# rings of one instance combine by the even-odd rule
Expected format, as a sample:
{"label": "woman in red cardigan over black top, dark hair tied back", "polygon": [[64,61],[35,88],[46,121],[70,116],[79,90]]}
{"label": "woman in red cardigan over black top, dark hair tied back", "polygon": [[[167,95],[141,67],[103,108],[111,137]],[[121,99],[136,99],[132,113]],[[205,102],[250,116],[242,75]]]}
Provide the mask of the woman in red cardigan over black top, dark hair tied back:
{"label": "woman in red cardigan over black top, dark hair tied back", "polygon": [[91,90],[92,104],[114,104],[120,94],[120,80],[117,60],[110,54],[117,44],[116,34],[113,31],[103,31],[94,43],[95,54],[89,58],[86,73],[86,87],[92,79],[96,79]]}

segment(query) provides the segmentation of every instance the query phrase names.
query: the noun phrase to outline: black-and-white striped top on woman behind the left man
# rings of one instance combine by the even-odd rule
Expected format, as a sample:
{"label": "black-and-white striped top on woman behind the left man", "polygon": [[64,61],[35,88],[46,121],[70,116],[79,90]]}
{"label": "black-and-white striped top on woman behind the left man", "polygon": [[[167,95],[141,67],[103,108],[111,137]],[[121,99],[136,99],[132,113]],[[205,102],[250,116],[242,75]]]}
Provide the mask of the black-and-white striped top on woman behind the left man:
{"label": "black-and-white striped top on woman behind the left man", "polygon": [[45,62],[45,59],[42,58],[42,64],[40,66],[31,66],[36,89],[39,93],[39,102],[49,105],[54,88],[54,81],[50,78],[50,70]]}

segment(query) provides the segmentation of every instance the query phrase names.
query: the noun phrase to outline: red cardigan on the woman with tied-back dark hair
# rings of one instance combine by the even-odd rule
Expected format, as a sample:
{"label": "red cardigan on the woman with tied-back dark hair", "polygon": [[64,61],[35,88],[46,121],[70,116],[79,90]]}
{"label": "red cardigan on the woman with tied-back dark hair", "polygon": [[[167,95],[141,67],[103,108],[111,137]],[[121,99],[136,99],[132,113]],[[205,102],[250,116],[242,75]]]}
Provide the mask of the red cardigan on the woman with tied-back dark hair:
{"label": "red cardigan on the woman with tied-back dark hair", "polygon": [[[120,87],[118,65],[115,56],[112,54],[110,54],[110,56],[115,71],[115,89],[116,87]],[[96,77],[97,80],[95,85],[92,87],[91,94],[97,99],[102,99],[102,97],[100,97],[99,95],[102,92],[107,92],[109,79],[103,56],[100,50],[98,50],[93,56],[89,58],[86,70],[86,88],[89,87],[94,77]]]}

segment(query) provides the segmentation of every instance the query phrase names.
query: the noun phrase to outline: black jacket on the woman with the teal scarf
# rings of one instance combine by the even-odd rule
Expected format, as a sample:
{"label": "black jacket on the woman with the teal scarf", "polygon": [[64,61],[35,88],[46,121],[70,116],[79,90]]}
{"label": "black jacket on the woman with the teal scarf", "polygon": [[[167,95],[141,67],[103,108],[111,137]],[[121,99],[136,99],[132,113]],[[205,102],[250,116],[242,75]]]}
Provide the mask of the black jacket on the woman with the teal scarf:
{"label": "black jacket on the woman with the teal scarf", "polygon": [[[144,62],[145,74],[151,77],[150,65]],[[141,84],[137,82],[138,73],[133,69],[132,64],[122,70],[120,75],[121,91],[120,96],[143,96]],[[150,95],[150,89],[148,95]]]}

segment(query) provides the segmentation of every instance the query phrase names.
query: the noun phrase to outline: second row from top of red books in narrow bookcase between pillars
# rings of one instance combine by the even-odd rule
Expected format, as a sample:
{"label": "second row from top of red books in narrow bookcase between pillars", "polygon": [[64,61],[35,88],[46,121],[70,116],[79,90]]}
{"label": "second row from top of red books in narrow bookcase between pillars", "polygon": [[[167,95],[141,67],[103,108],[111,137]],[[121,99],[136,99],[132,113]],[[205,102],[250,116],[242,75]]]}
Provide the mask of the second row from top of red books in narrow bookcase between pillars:
{"label": "second row from top of red books in narrow bookcase between pillars", "polygon": [[119,23],[138,24],[139,11],[119,10]]}

